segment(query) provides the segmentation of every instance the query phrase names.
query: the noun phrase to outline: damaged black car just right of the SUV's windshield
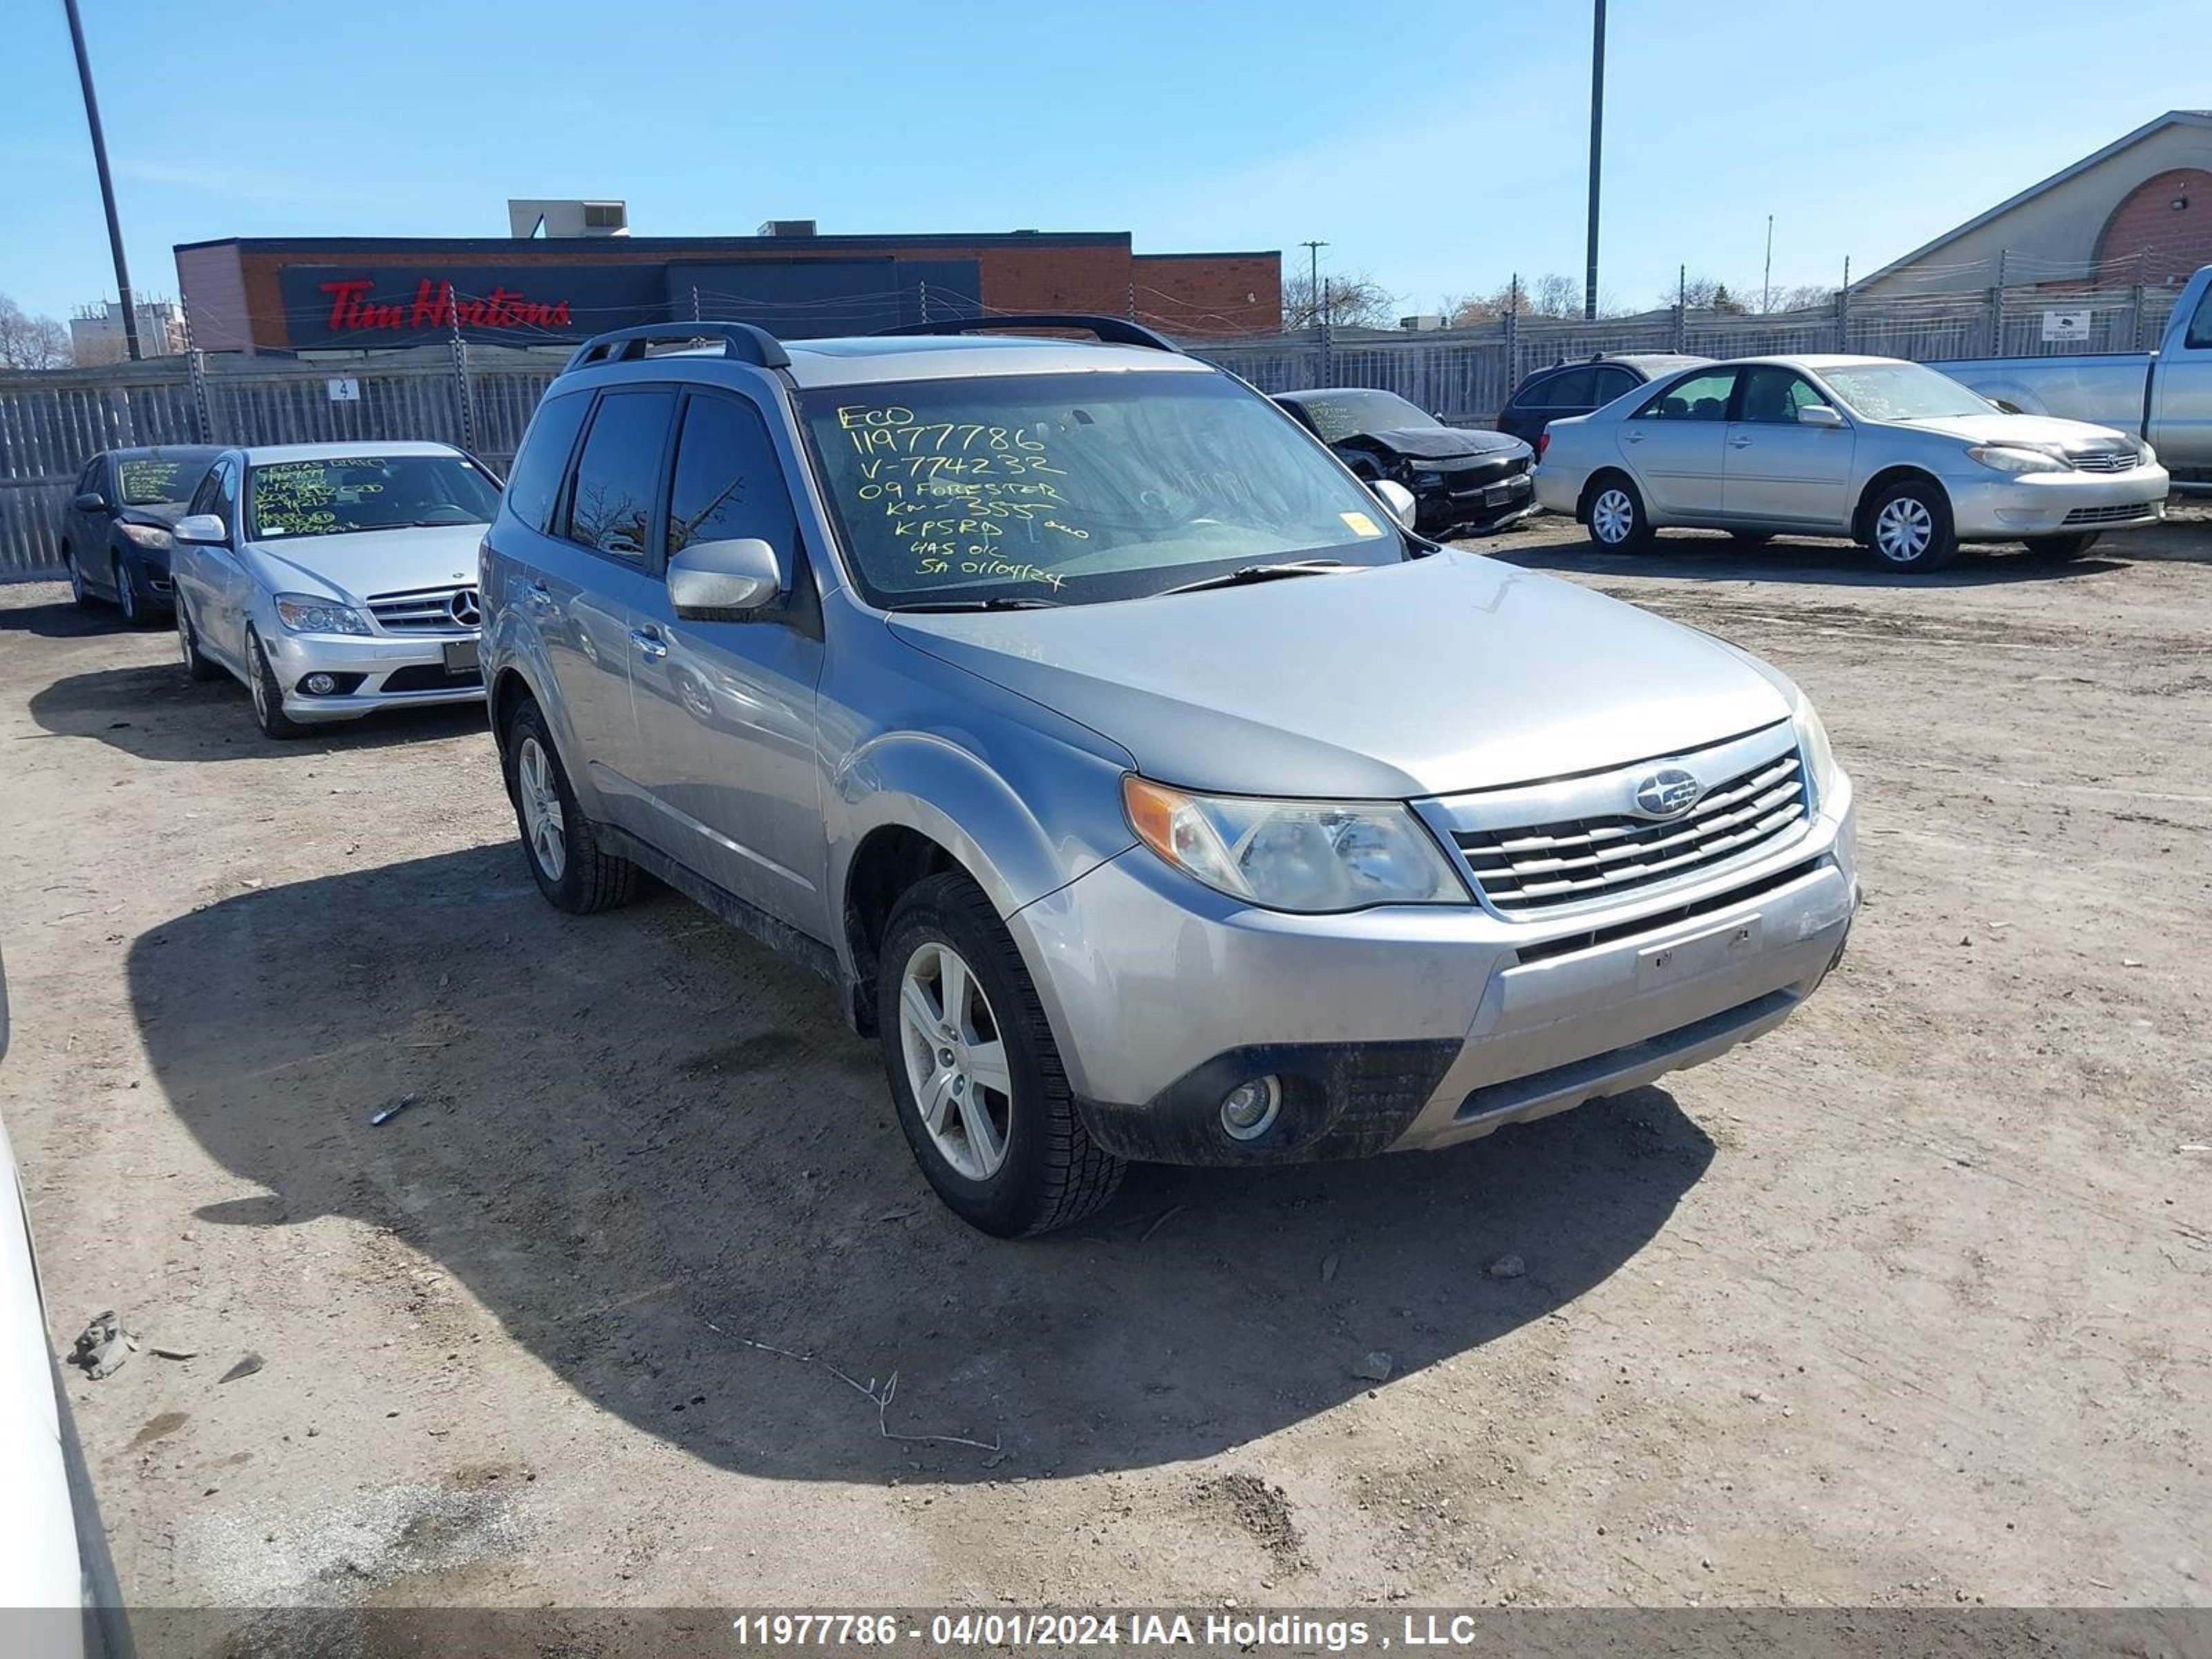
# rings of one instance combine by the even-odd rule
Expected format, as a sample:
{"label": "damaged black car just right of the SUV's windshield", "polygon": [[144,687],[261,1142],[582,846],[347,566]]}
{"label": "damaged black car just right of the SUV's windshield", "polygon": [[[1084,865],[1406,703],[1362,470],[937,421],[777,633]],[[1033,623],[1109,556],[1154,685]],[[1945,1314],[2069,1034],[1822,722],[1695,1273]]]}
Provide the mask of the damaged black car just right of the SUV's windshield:
{"label": "damaged black car just right of the SUV's windshield", "polygon": [[1447,427],[1396,392],[1327,387],[1276,396],[1367,482],[1413,491],[1422,535],[1500,531],[1535,511],[1535,451],[1502,431]]}

